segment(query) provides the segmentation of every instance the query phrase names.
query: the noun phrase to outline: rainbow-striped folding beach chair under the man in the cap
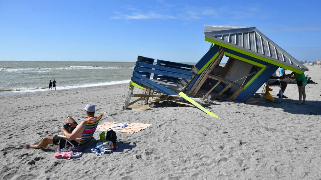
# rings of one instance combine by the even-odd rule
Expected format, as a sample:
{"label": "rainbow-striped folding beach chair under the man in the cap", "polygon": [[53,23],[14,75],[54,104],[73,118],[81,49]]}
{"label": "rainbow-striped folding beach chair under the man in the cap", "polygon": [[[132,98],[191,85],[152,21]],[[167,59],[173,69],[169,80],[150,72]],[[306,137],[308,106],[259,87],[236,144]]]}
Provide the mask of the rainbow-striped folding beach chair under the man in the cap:
{"label": "rainbow-striped folding beach chair under the man in the cap", "polygon": [[[94,135],[95,131],[96,131],[96,128],[98,126],[98,123],[99,121],[102,121],[106,118],[102,118],[103,115],[106,115],[106,118],[108,118],[108,115],[103,112],[101,113],[97,118],[94,118],[94,117],[91,117],[85,127],[85,130],[83,131],[82,133],[82,136],[81,138],[76,138],[79,140],[79,143],[78,143],[78,146],[82,146],[84,145],[85,143],[89,142],[92,138],[92,136]],[[65,144],[65,147],[67,146],[67,142],[70,143],[72,145],[72,147],[75,147],[77,144],[73,144],[71,143],[66,136],[64,135],[57,135],[58,137],[61,137],[61,138],[64,138],[66,140],[66,144]]]}

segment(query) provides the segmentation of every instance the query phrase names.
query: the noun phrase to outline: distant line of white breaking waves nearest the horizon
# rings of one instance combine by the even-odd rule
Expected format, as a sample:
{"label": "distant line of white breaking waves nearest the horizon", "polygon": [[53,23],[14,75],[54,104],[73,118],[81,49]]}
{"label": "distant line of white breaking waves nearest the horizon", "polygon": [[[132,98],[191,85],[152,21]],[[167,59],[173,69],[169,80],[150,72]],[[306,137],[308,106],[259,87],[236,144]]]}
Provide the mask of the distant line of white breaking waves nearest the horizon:
{"label": "distant line of white breaking waves nearest the horizon", "polygon": [[1,68],[0,71],[37,71],[45,72],[46,70],[99,70],[99,69],[134,69],[134,66],[120,67],[98,67],[98,66],[70,66],[64,68]]}

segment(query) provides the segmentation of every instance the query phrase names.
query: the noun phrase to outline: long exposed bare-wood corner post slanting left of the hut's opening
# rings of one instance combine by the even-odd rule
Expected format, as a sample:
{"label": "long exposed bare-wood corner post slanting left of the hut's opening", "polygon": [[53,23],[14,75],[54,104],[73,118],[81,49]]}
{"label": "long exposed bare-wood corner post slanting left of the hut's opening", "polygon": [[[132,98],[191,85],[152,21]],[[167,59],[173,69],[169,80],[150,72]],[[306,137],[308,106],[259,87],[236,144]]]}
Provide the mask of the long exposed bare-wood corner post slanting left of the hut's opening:
{"label": "long exposed bare-wood corner post slanting left of the hut's opening", "polygon": [[197,79],[197,81],[195,82],[195,84],[193,85],[193,87],[191,88],[189,94],[191,94],[192,96],[195,96],[198,92],[198,90],[201,88],[201,86],[204,84],[207,75],[210,74],[212,72],[212,70],[215,68],[215,66],[218,64],[219,61],[221,61],[221,59],[224,56],[224,51],[223,49],[220,47],[220,51],[219,51],[219,55],[216,57],[216,59],[211,62],[211,64],[201,73],[201,75],[199,76],[199,78]]}

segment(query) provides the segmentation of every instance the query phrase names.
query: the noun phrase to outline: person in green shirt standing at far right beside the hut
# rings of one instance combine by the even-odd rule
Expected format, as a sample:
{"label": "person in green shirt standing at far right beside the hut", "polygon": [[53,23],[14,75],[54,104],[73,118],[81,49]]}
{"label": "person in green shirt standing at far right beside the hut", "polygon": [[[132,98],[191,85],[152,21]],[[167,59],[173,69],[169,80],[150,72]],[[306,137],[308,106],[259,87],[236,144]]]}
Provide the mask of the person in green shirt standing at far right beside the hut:
{"label": "person in green shirt standing at far right beside the hut", "polygon": [[[292,75],[294,75],[294,76],[292,76]],[[305,97],[306,97],[305,86],[307,86],[308,81],[307,81],[307,78],[305,77],[304,72],[302,72],[301,74],[298,74],[296,72],[292,72],[287,77],[297,80],[297,85],[299,87],[299,102],[297,104],[299,104],[299,105],[304,104],[305,105]],[[302,96],[303,96],[303,102],[301,102]]]}

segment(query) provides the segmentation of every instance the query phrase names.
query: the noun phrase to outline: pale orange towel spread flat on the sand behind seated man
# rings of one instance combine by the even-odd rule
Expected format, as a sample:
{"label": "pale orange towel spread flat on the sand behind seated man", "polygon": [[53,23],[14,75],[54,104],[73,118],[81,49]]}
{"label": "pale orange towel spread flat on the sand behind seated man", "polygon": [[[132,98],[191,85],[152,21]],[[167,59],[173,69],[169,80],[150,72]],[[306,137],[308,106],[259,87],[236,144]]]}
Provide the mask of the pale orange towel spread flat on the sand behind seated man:
{"label": "pale orange towel spread flat on the sand behind seated man", "polygon": [[143,124],[139,122],[134,123],[117,123],[117,122],[106,122],[98,125],[100,131],[107,131],[109,128],[115,132],[122,132],[127,134],[134,134],[140,130],[146,129],[147,127],[152,126],[151,124]]}

